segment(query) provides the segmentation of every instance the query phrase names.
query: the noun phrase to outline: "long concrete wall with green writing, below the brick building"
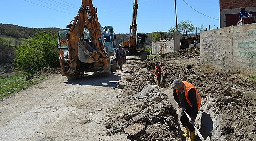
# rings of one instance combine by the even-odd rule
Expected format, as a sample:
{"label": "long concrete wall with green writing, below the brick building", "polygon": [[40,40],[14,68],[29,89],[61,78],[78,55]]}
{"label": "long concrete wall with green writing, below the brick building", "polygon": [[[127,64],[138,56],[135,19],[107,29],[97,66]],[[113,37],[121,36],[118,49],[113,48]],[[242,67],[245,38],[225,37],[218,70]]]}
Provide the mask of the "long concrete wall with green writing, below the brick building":
{"label": "long concrete wall with green writing, below the brick building", "polygon": [[200,40],[202,64],[256,75],[256,24],[202,31]]}

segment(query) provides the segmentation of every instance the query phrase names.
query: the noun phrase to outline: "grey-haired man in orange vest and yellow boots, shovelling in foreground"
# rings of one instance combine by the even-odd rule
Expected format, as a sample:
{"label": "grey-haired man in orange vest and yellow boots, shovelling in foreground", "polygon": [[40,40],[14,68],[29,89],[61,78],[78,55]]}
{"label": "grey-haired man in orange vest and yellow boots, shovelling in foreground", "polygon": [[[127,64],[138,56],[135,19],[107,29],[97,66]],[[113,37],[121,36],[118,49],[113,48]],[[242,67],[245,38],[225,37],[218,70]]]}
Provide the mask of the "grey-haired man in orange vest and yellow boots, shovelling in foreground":
{"label": "grey-haired man in orange vest and yellow boots, shovelling in foreground", "polygon": [[182,126],[186,128],[186,132],[182,135],[182,137],[189,136],[189,141],[194,141],[195,128],[191,122],[195,122],[202,99],[199,96],[195,86],[186,81],[181,81],[179,79],[174,80],[173,88],[173,96],[175,101],[178,103],[179,107],[183,107],[187,114],[189,114],[191,117],[191,120],[189,121],[188,117],[184,113],[184,110],[182,109],[180,122],[182,123]]}

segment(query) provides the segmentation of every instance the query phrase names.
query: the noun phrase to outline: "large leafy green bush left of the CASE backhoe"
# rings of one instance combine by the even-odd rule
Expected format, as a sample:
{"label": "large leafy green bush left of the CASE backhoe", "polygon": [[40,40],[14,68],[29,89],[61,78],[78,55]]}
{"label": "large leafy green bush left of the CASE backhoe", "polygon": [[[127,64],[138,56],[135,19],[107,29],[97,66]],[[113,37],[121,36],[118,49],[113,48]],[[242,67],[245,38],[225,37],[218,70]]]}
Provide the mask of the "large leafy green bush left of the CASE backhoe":
{"label": "large leafy green bush left of the CASE backhoe", "polygon": [[43,67],[58,65],[57,34],[50,31],[37,31],[31,42],[17,47],[15,65],[24,70],[26,76],[40,71]]}

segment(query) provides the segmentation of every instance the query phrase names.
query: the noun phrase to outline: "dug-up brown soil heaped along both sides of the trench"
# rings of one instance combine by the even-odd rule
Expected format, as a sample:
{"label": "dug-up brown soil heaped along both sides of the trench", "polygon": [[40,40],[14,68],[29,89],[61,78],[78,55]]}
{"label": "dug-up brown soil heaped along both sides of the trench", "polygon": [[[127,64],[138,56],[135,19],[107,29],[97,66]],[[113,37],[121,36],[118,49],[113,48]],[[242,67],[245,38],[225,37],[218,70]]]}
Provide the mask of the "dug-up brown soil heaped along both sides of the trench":
{"label": "dug-up brown soil heaped along both sides of the trench", "polygon": [[[129,139],[137,141],[181,140],[176,109],[159,92],[160,88],[151,86],[156,85],[154,64],[165,60],[162,86],[172,89],[173,80],[180,78],[192,83],[202,97],[195,124],[205,139],[209,136],[213,141],[255,140],[256,81],[244,74],[200,64],[199,57],[200,48],[195,47],[127,63],[124,67],[129,79],[122,83],[128,94],[121,102],[126,112],[106,119],[109,132],[126,133]],[[248,93],[252,97],[246,97]]]}

